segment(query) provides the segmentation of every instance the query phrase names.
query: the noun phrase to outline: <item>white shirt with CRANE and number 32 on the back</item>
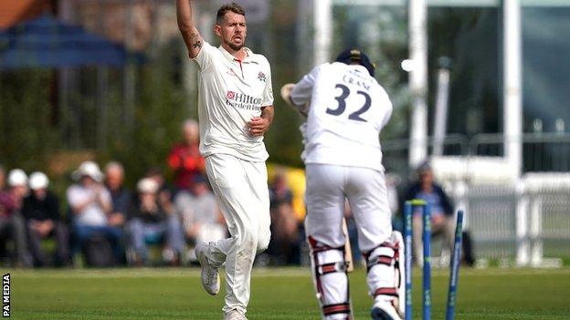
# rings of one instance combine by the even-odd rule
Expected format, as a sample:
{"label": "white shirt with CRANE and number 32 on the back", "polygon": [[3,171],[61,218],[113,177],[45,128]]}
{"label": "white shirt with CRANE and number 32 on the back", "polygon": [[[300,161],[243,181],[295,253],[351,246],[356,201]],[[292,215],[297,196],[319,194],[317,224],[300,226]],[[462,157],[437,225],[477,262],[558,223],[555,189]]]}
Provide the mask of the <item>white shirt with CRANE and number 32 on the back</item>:
{"label": "white shirt with CRANE and number 32 on the back", "polygon": [[315,67],[295,85],[290,99],[309,105],[305,163],[384,171],[379,134],[392,115],[392,103],[365,67],[340,62]]}

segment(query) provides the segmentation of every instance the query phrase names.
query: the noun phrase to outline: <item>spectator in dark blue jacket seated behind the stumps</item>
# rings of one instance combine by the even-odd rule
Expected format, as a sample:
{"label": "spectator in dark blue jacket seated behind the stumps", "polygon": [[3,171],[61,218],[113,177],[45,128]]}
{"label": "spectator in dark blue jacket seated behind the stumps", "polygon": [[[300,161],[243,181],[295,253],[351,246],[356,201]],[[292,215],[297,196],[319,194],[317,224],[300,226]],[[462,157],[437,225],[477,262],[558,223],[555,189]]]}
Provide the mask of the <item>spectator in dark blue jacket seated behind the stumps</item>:
{"label": "spectator in dark blue jacket seated behind the stumps", "polygon": [[[453,250],[453,235],[455,222],[453,220],[453,205],[448,195],[434,182],[433,171],[428,162],[417,169],[419,181],[413,183],[406,192],[405,200],[421,199],[428,202],[431,208],[431,231],[433,235],[441,234],[445,239],[444,246]],[[403,206],[402,206],[403,207]],[[423,265],[422,253],[422,212],[416,207],[412,216],[413,243],[416,263]]]}

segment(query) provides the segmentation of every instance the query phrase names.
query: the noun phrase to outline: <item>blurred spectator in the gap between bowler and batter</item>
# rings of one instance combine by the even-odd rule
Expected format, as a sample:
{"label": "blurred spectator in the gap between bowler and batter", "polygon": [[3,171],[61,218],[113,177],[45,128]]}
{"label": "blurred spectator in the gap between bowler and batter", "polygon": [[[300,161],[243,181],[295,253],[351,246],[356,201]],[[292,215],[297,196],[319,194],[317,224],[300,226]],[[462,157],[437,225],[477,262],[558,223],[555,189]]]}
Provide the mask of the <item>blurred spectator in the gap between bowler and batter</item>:
{"label": "blurred spectator in the gap between bowler and batter", "polygon": [[287,185],[285,172],[278,171],[269,186],[269,209],[271,213],[271,243],[269,254],[274,263],[298,264],[299,225],[293,212],[293,195]]}

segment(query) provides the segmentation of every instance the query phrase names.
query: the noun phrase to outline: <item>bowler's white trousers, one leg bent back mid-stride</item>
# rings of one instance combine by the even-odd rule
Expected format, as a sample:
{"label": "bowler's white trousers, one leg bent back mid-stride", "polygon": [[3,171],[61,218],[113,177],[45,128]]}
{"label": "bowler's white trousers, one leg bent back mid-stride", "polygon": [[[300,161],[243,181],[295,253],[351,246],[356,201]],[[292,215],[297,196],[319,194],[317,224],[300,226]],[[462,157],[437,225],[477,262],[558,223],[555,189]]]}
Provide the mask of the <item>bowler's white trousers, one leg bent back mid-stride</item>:
{"label": "bowler's white trousers, one leg bent back mid-stride", "polygon": [[246,313],[251,268],[256,253],[269,245],[269,189],[265,162],[227,154],[206,157],[206,173],[227,223],[230,238],[210,243],[206,257],[216,267],[226,263],[225,313]]}

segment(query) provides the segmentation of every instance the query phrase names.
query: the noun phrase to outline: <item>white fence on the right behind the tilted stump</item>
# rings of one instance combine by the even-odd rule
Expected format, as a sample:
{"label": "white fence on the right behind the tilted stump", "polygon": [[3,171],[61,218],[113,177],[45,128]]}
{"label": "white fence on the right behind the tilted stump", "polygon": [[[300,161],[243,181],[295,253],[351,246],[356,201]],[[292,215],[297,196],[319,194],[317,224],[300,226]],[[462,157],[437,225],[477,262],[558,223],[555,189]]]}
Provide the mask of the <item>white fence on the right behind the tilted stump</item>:
{"label": "white fence on the right behind the tilted stump", "polygon": [[[479,257],[514,258],[540,266],[545,257],[570,257],[568,175],[525,176],[517,185],[478,185],[453,192],[467,212]],[[452,193],[452,194],[453,194]]]}

